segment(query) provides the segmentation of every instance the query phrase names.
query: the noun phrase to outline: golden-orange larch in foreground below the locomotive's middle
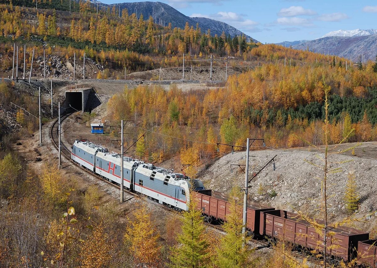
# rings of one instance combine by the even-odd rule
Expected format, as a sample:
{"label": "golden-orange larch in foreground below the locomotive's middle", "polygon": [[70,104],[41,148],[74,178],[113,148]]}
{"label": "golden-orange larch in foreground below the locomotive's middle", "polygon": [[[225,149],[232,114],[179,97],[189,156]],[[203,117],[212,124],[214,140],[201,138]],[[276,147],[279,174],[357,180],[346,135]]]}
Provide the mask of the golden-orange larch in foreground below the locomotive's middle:
{"label": "golden-orange larch in foreground below the locomotive's middle", "polygon": [[159,234],[144,204],[139,204],[132,213],[133,220],[125,234],[129,244],[129,253],[133,256],[134,265],[155,267],[159,262]]}

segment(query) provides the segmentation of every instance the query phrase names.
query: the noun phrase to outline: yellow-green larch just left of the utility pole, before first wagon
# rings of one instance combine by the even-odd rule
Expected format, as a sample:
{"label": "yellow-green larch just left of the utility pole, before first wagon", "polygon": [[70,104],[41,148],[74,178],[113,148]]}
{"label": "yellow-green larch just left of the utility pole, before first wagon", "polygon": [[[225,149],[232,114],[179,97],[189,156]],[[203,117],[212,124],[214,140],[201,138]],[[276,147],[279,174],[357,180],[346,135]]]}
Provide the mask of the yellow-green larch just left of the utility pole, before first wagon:
{"label": "yellow-green larch just left of the utility pole, before first wagon", "polygon": [[[219,268],[241,268],[249,265],[247,246],[243,247],[242,234],[242,192],[239,187],[233,187],[229,203],[231,213],[227,216],[224,231],[227,233],[217,249],[216,265]],[[247,239],[247,238],[245,238]]]}

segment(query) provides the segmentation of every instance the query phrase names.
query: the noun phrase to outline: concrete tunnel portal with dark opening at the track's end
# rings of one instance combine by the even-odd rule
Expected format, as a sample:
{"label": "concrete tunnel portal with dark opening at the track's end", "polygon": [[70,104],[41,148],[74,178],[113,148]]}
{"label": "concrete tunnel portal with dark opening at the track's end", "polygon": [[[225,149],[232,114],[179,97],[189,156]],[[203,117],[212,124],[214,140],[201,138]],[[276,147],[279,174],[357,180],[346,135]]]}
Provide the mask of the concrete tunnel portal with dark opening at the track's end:
{"label": "concrete tunnel portal with dark opening at the track's end", "polygon": [[63,107],[68,109],[70,107],[78,111],[87,112],[88,105],[87,101],[89,98],[89,93],[92,88],[77,88],[69,89],[65,91],[65,101]]}

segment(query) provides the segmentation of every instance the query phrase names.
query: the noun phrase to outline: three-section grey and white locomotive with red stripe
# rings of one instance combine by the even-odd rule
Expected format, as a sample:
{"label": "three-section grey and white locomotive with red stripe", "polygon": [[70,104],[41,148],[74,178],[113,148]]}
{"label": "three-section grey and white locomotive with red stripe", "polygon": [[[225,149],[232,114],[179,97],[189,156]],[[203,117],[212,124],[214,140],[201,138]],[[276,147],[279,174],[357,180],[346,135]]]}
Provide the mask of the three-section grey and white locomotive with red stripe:
{"label": "three-section grey and white locomotive with red stripe", "polygon": [[[110,153],[101,145],[85,139],[77,139],[72,146],[71,157],[82,167],[120,185],[120,154]],[[195,191],[205,189],[198,179],[192,180],[181,173],[138,159],[123,156],[123,168],[124,188],[176,210],[189,209],[191,188]]]}

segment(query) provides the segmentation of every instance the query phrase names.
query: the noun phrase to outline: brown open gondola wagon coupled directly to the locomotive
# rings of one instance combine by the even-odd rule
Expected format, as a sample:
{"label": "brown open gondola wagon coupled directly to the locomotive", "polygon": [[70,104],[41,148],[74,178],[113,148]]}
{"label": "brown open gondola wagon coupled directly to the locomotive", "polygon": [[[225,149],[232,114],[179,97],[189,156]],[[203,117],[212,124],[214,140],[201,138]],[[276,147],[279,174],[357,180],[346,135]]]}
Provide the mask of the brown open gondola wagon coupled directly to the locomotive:
{"label": "brown open gondola wagon coupled directly to the locomotive", "polygon": [[[196,208],[202,210],[205,221],[209,223],[212,221],[226,221],[227,214],[230,213],[230,204],[226,194],[214,190],[200,190],[193,192],[193,197],[196,202]],[[248,201],[246,226],[249,235],[259,235],[260,213],[268,210],[274,210],[274,208]]]}

